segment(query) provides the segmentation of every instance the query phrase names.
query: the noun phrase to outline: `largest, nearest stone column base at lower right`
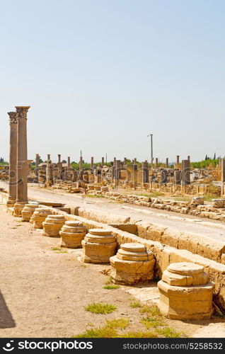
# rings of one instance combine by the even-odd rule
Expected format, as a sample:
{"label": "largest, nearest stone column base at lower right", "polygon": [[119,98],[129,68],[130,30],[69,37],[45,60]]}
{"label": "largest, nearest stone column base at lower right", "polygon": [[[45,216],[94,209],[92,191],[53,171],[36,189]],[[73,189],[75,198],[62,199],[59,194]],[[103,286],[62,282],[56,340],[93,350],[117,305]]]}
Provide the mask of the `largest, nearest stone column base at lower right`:
{"label": "largest, nearest stone column base at lower right", "polygon": [[158,282],[158,308],[170,319],[209,319],[212,315],[214,283],[209,282],[202,265],[171,263]]}

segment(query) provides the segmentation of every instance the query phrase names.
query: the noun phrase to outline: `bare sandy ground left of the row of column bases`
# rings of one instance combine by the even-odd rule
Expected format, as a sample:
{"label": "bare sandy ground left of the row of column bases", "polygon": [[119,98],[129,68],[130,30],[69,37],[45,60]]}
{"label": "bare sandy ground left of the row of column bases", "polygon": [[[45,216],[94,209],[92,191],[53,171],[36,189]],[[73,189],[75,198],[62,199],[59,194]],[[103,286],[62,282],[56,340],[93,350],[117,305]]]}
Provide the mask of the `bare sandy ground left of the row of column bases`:
{"label": "bare sandy ground left of the row of column bases", "polygon": [[[109,265],[83,266],[77,259],[81,250],[52,251],[59,239],[44,237],[29,223],[8,215],[5,205],[0,205],[0,220],[1,337],[70,337],[93,324],[103,326],[105,319],[121,317],[129,318],[127,331],[144,330],[139,323],[139,309],[129,307],[131,295],[127,290],[134,287],[103,289],[107,277],[100,271]],[[115,304],[117,310],[107,315],[91,314],[83,307],[92,302]],[[167,322],[188,336],[212,336],[214,326],[217,333],[225,333],[221,319],[214,319],[213,324]]]}

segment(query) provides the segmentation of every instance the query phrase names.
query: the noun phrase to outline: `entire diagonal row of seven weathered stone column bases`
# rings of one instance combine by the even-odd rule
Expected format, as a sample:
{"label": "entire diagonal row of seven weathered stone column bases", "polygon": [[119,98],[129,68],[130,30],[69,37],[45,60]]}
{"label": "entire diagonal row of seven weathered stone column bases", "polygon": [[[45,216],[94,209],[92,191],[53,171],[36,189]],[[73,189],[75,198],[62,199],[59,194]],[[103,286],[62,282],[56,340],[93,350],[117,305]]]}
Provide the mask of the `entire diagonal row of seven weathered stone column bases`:
{"label": "entire diagonal row of seven weathered stone column bases", "polygon": [[[42,229],[43,236],[61,236],[61,246],[83,248],[84,263],[110,263],[113,282],[134,285],[154,278],[154,254],[143,244],[117,244],[108,229],[89,229],[79,221],[66,221],[64,215],[53,215],[52,210],[37,203],[26,204],[23,221]],[[172,263],[158,282],[161,313],[171,319],[206,319],[212,315],[214,283],[209,282],[202,265]]]}

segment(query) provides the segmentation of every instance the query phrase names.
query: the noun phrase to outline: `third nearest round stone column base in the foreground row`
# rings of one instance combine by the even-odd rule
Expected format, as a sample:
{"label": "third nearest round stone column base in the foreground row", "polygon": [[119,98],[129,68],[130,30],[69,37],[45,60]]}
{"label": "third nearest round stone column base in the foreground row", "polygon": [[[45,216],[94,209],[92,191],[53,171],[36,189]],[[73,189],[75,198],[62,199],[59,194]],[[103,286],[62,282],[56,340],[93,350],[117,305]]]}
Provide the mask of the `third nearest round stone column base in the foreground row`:
{"label": "third nearest round stone column base in the foreground row", "polygon": [[81,244],[84,263],[109,263],[117,247],[115,236],[106,229],[89,229]]}

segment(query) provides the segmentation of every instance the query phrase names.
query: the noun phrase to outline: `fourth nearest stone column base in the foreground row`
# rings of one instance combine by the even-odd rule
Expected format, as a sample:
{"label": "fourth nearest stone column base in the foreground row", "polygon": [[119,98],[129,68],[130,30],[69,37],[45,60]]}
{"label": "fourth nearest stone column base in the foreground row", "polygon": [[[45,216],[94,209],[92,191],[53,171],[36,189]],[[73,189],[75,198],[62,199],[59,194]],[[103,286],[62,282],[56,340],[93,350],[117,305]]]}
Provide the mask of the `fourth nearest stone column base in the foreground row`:
{"label": "fourth nearest stone column base in the foreground row", "polygon": [[61,246],[68,247],[69,249],[76,249],[81,247],[81,241],[86,235],[86,227],[81,222],[66,221],[61,231]]}

